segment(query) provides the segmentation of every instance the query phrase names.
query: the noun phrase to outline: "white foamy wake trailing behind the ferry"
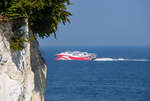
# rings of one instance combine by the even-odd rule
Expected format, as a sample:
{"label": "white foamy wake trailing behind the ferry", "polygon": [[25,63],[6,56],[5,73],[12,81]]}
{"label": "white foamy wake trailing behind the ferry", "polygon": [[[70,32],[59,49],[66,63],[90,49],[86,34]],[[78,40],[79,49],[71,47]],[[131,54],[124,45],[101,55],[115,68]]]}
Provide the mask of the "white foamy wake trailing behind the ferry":
{"label": "white foamy wake trailing behind the ferry", "polygon": [[94,61],[150,61],[148,59],[96,58]]}

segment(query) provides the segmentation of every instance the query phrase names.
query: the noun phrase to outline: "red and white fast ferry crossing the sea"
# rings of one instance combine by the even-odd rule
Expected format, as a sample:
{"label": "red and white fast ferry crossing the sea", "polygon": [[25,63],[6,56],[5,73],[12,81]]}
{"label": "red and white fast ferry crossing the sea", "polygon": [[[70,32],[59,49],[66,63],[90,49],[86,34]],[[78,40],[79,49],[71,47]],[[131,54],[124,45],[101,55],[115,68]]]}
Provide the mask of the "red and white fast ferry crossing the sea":
{"label": "red and white fast ferry crossing the sea", "polygon": [[80,51],[66,51],[56,54],[56,60],[94,60],[96,54]]}

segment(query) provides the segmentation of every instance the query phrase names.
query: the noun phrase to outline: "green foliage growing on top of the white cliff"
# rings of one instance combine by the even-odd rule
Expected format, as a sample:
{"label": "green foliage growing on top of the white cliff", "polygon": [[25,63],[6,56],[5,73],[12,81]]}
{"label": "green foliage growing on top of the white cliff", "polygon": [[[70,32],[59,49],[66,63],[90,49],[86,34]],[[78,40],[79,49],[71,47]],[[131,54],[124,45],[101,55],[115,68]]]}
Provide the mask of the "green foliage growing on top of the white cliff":
{"label": "green foliage growing on top of the white cliff", "polygon": [[[4,18],[9,20],[26,18],[35,38],[49,37],[51,34],[56,37],[58,24],[70,23],[71,13],[66,8],[70,4],[69,0],[1,0],[0,21]],[[23,49],[22,35],[16,34],[11,41],[13,42],[11,48],[14,50]]]}

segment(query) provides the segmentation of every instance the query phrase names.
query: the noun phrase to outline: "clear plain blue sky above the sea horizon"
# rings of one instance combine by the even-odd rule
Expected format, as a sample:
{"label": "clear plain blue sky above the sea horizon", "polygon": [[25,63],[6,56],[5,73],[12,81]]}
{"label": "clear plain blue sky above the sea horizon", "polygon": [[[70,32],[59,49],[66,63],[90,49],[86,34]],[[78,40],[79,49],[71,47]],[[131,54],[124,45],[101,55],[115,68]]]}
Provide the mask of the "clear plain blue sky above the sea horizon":
{"label": "clear plain blue sky above the sea horizon", "polygon": [[150,0],[71,0],[71,24],[41,46],[150,46]]}

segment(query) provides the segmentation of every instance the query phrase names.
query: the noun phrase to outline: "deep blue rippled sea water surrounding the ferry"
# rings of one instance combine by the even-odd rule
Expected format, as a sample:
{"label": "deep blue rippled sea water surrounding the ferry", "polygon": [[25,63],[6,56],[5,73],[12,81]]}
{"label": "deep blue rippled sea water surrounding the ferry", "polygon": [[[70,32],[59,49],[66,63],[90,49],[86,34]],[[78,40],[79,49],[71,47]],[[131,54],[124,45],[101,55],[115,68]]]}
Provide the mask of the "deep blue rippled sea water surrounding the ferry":
{"label": "deep blue rippled sea water surrounding the ferry", "polygon": [[[150,47],[40,47],[47,64],[46,101],[150,101]],[[112,61],[56,61],[67,50]],[[123,58],[122,61],[113,61]]]}

